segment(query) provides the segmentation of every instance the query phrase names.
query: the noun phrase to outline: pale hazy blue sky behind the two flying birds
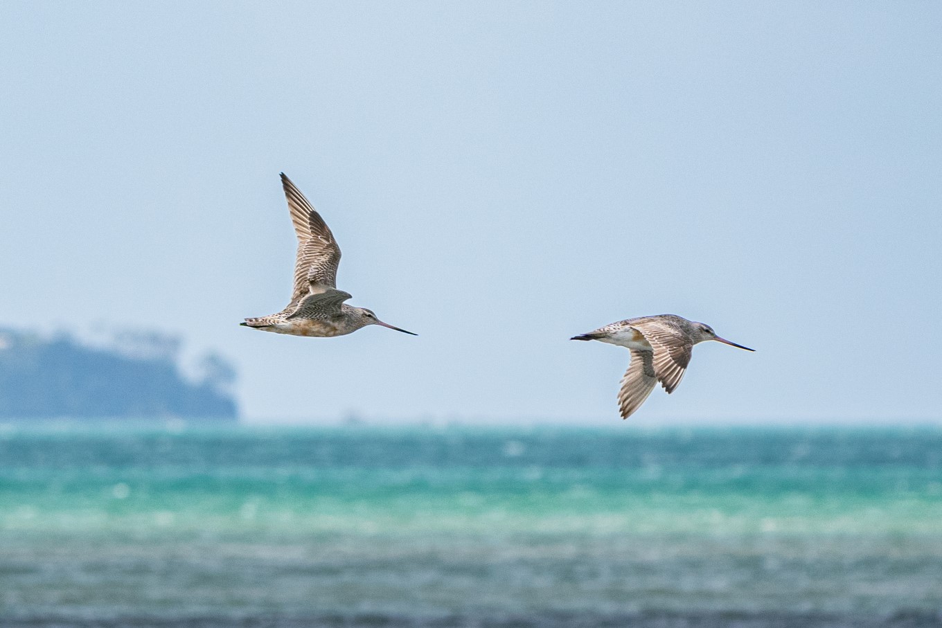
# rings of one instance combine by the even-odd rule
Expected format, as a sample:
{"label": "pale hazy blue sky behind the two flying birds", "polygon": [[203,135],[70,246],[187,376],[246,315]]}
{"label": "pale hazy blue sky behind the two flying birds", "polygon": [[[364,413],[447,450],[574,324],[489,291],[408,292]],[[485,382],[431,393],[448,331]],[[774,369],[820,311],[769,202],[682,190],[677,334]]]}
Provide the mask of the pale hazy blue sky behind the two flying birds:
{"label": "pale hazy blue sky behind the two flying birds", "polygon": [[[942,5],[5,2],[0,324],[179,333],[253,420],[942,417]],[[288,298],[284,170],[379,327]]]}

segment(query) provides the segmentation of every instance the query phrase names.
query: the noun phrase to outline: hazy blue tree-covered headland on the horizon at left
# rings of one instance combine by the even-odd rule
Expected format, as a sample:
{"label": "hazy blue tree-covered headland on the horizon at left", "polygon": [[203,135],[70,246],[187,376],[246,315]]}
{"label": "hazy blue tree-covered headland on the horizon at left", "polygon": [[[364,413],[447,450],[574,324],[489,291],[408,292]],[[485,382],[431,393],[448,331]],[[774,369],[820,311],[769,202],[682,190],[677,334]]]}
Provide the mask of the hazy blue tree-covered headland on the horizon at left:
{"label": "hazy blue tree-covered headland on the horizon at left", "polygon": [[235,369],[207,355],[184,372],[180,341],[122,332],[104,344],[0,330],[0,419],[235,421]]}

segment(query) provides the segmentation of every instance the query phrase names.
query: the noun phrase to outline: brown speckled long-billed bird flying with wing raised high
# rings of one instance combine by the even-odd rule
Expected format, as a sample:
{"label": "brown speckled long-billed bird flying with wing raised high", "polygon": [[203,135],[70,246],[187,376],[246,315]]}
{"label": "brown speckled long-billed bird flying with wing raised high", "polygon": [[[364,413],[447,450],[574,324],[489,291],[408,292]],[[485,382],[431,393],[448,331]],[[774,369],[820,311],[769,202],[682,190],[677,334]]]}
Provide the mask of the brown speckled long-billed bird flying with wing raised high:
{"label": "brown speckled long-billed bird flying with wing raised high", "polygon": [[416,335],[412,331],[383,323],[370,310],[344,303],[350,295],[337,290],[340,247],[333,239],[333,233],[284,172],[282,186],[291,221],[298,234],[298,257],[291,302],[278,314],[246,318],[240,325],[253,330],[316,337],[342,336],[367,325],[381,325],[390,330]]}

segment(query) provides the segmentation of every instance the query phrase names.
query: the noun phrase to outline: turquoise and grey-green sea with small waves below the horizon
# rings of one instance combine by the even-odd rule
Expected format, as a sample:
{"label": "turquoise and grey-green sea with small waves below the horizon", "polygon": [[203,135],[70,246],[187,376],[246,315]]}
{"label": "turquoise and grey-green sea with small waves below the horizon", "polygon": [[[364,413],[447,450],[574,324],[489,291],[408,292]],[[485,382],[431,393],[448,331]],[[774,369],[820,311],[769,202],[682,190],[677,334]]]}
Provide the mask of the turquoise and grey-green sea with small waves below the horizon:
{"label": "turquoise and grey-green sea with small waves below the horizon", "polygon": [[0,426],[0,626],[942,626],[942,428]]}

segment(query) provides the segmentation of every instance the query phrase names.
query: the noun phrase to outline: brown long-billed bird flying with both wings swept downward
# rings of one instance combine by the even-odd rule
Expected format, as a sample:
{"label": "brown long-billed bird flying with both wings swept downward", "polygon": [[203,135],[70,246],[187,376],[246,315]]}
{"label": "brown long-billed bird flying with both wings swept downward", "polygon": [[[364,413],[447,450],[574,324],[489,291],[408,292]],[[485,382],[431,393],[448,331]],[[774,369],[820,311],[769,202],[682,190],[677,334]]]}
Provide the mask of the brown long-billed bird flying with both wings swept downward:
{"label": "brown long-billed bird flying with both wings swept downward", "polygon": [[579,334],[570,340],[597,340],[609,345],[626,346],[631,351],[631,363],[628,364],[622,387],[618,391],[618,405],[623,419],[641,408],[658,381],[668,394],[674,392],[687,371],[693,346],[697,343],[715,340],[755,351],[721,338],[709,325],[674,314],[628,318]]}

